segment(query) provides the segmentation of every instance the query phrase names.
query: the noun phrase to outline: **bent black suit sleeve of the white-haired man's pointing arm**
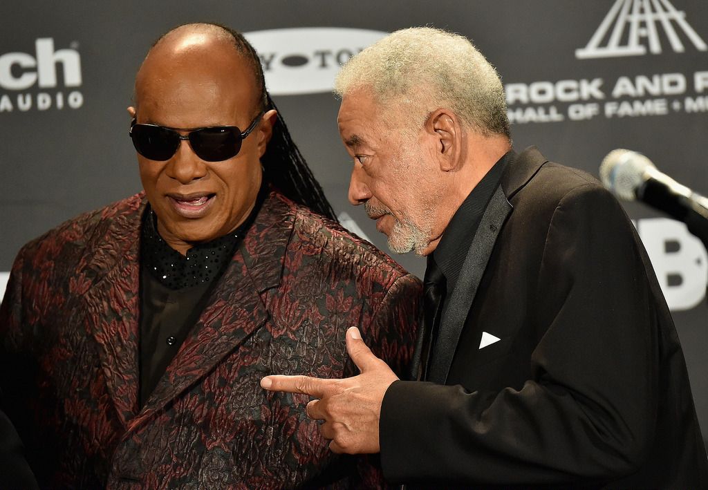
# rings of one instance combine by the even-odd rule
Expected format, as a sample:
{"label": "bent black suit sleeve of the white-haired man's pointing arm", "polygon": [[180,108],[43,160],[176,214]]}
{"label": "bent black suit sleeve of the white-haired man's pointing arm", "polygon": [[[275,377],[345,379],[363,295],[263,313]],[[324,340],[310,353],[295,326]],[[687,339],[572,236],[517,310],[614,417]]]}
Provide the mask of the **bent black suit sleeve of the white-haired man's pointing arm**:
{"label": "bent black suit sleeve of the white-haired man's pointing arm", "polygon": [[660,396],[663,297],[643,256],[615,198],[595,185],[570,190],[548,224],[537,308],[521,327],[545,331],[530,358],[534,375],[499,392],[392,384],[379,429],[387,479],[601,483],[636,471]]}

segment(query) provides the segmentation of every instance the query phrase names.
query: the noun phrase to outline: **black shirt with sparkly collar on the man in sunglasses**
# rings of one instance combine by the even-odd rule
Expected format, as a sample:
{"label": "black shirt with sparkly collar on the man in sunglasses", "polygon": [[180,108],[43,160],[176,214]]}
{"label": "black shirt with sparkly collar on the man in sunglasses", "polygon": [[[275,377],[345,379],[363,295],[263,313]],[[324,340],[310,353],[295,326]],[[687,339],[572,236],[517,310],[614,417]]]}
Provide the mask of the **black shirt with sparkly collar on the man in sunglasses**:
{"label": "black shirt with sparkly collar on the man in sunglasses", "polygon": [[266,190],[267,186],[261,188],[244,224],[223,237],[196,244],[185,256],[157,232],[156,217],[148,205],[140,235],[140,406],[198,321],[208,293],[253,223]]}

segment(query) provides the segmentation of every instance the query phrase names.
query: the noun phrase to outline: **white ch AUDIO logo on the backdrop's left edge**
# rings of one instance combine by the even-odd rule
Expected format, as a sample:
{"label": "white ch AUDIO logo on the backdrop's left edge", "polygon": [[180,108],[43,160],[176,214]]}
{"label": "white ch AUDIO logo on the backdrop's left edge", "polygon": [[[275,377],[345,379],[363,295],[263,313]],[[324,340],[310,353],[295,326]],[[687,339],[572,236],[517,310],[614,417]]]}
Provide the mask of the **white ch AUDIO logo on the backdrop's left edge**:
{"label": "white ch AUDIO logo on the backdrop's left edge", "polygon": [[[57,79],[57,67],[62,67],[63,84]],[[8,52],[0,55],[0,113],[31,109],[47,110],[64,107],[78,109],[84,96],[78,90],[65,94],[62,87],[81,86],[81,56],[76,49],[55,50],[54,39],[35,41],[35,55]],[[35,86],[41,91],[31,91]],[[27,91],[27,92],[21,92]]]}

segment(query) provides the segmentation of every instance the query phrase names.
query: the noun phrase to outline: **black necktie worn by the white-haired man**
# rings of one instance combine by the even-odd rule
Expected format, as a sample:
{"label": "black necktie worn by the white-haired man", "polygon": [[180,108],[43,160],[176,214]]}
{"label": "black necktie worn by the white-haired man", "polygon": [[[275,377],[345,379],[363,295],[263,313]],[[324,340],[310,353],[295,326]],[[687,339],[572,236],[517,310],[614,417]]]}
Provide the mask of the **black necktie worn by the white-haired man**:
{"label": "black necktie worn by the white-haired man", "polygon": [[426,275],[423,278],[423,349],[421,352],[421,380],[428,378],[435,339],[438,337],[438,326],[442,315],[442,304],[445,300],[445,275],[435,263],[433,254],[428,256]]}

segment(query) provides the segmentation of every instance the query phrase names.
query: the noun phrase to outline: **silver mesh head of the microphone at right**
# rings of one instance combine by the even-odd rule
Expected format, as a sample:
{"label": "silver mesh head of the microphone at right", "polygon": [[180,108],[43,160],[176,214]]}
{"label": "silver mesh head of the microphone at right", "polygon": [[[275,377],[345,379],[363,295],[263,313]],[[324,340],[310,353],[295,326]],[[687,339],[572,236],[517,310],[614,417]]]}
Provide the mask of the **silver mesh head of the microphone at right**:
{"label": "silver mesh head of the microphone at right", "polygon": [[646,180],[644,173],[648,169],[656,169],[656,166],[643,154],[615,149],[600,164],[600,180],[618,198],[633,201],[636,189]]}

